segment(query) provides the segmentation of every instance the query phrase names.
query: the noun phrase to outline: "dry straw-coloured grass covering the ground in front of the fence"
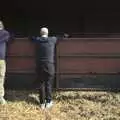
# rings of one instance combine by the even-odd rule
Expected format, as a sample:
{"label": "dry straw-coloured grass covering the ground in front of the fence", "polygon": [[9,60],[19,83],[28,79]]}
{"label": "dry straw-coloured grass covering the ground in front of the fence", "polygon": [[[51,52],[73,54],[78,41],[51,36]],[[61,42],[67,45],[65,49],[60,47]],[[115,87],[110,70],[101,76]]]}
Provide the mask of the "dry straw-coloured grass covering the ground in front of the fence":
{"label": "dry straw-coloured grass covering the ground in front of the fence", "polygon": [[50,110],[39,108],[36,92],[7,91],[6,95],[8,104],[0,105],[0,120],[120,120],[120,93],[57,92]]}

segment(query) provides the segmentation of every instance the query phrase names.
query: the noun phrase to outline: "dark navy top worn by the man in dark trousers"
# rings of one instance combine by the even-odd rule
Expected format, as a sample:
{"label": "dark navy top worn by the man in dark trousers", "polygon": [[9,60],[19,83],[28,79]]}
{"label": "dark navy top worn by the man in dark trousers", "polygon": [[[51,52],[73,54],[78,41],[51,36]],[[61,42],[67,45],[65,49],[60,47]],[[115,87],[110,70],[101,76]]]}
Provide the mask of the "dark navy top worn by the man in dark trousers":
{"label": "dark navy top worn by the man in dark trousers", "polygon": [[36,43],[37,62],[54,63],[54,50],[57,41],[56,37],[32,37]]}

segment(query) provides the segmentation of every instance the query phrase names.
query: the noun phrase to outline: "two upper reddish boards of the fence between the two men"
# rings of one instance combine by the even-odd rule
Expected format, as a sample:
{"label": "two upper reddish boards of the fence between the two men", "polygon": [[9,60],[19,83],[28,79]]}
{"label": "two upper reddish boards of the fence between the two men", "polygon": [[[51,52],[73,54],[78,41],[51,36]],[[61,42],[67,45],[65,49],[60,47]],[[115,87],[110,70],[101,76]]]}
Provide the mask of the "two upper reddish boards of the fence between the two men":
{"label": "two upper reddish boards of the fence between the two men", "polygon": [[28,38],[17,38],[7,52],[7,71],[25,72],[35,69],[34,44]]}

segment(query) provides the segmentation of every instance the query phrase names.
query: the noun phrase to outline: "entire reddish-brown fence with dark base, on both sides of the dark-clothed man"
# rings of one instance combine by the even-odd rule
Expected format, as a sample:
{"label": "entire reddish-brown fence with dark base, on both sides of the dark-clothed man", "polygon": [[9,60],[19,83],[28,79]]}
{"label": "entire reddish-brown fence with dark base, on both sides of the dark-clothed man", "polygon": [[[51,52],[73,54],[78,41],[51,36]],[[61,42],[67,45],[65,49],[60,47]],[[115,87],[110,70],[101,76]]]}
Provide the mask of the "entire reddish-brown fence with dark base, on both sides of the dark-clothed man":
{"label": "entire reddish-brown fence with dark base, on both sides of the dark-clothed man", "polygon": [[[34,44],[16,38],[8,47],[6,87],[31,88]],[[120,88],[120,38],[66,38],[56,46],[57,89]]]}

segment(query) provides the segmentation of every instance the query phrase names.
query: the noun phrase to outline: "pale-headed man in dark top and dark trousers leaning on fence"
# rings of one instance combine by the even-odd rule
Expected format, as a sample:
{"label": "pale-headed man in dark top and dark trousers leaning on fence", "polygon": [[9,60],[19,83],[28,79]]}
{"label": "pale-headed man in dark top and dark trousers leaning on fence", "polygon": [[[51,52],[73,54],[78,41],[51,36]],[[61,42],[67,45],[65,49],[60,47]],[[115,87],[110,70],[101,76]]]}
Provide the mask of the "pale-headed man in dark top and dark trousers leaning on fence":
{"label": "pale-headed man in dark top and dark trousers leaning on fence", "polygon": [[32,37],[36,42],[36,71],[39,81],[39,98],[41,108],[50,108],[52,101],[52,82],[54,79],[54,50],[56,37],[48,37],[48,29],[41,28],[41,37]]}

